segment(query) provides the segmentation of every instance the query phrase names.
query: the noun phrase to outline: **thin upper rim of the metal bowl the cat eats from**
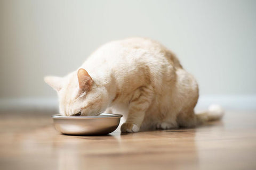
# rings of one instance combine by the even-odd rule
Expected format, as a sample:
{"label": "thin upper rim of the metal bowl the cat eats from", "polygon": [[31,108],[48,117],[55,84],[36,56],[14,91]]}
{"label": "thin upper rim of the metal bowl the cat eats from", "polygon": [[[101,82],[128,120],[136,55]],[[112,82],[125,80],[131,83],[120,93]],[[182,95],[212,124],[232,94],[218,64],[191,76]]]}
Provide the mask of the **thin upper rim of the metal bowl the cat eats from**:
{"label": "thin upper rim of the metal bowl the cat eats from", "polygon": [[79,120],[88,120],[88,119],[100,119],[100,118],[121,118],[123,115],[114,114],[114,113],[101,113],[99,116],[61,116],[60,114],[52,115],[53,119],[79,119]]}

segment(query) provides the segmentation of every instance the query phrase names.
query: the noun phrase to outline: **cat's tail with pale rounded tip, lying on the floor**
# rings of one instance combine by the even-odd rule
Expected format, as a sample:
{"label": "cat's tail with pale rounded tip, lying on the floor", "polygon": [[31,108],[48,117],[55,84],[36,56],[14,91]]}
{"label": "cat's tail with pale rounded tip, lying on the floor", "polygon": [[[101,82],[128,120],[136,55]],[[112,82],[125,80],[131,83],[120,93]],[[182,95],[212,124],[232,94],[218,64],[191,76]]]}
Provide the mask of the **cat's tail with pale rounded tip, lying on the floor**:
{"label": "cat's tail with pale rounded tip, lying on the floor", "polygon": [[224,115],[224,110],[219,105],[210,105],[207,111],[196,113],[197,124],[217,121]]}

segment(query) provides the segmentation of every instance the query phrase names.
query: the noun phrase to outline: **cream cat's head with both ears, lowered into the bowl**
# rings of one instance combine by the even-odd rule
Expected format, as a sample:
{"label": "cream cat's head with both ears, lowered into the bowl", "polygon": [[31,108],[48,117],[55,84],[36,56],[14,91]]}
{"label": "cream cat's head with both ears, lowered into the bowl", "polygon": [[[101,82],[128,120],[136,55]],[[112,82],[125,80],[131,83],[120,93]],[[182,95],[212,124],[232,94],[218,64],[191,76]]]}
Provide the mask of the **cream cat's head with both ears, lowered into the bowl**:
{"label": "cream cat's head with both ears, lowered into the bowl", "polygon": [[108,106],[107,90],[96,84],[84,69],[67,77],[45,77],[45,82],[58,92],[62,116],[96,116]]}

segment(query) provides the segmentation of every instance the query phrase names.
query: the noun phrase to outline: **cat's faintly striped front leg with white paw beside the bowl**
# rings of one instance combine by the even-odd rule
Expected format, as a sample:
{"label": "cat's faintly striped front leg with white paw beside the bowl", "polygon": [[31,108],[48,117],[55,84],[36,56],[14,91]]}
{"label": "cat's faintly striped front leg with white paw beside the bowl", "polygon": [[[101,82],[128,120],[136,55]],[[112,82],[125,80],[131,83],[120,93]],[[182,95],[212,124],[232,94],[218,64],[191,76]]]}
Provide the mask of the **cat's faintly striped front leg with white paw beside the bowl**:
{"label": "cat's faintly striped front leg with white paw beside the bowl", "polygon": [[145,112],[153,99],[153,88],[139,87],[129,102],[127,120],[121,126],[122,132],[138,132],[144,120]]}

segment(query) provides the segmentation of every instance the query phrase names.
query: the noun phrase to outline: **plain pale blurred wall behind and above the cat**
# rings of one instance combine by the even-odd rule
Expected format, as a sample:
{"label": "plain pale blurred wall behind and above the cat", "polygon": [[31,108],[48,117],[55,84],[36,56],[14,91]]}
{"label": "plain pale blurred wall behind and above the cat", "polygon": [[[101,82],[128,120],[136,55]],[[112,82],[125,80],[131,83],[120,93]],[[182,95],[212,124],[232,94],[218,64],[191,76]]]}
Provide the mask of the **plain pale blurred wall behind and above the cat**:
{"label": "plain pale blurred wall behind and above the cat", "polygon": [[98,46],[156,39],[195,75],[201,95],[256,94],[255,1],[0,1],[0,98],[56,97]]}

